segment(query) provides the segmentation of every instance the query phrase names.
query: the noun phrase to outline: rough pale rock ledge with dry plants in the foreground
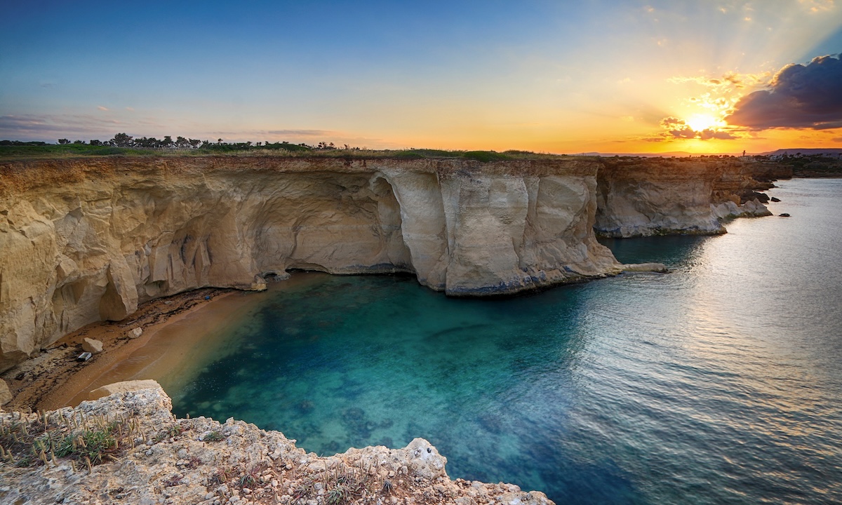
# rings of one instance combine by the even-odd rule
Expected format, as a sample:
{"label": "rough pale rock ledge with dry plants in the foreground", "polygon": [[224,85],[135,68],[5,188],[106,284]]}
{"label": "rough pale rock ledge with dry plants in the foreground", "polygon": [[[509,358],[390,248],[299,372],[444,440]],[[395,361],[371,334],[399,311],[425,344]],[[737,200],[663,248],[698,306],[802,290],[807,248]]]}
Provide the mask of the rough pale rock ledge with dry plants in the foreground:
{"label": "rough pale rock ledge with dry plants in the foreground", "polygon": [[[0,413],[0,502],[552,503],[510,484],[451,481],[447,460],[424,439],[320,458],[281,433],[176,419],[171,408],[155,387],[45,414]],[[60,441],[74,436],[88,444],[65,453]],[[94,447],[93,439],[108,442]]]}

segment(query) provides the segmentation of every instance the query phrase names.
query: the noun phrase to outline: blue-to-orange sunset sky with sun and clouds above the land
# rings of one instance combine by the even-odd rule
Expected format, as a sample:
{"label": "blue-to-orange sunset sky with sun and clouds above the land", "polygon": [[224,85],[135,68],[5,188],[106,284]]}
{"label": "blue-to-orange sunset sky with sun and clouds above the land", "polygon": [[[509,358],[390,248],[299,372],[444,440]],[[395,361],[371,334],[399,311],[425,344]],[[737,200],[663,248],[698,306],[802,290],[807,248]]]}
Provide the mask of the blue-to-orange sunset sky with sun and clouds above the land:
{"label": "blue-to-orange sunset sky with sun and clouds above the land", "polygon": [[842,0],[4,4],[0,139],[842,147]]}

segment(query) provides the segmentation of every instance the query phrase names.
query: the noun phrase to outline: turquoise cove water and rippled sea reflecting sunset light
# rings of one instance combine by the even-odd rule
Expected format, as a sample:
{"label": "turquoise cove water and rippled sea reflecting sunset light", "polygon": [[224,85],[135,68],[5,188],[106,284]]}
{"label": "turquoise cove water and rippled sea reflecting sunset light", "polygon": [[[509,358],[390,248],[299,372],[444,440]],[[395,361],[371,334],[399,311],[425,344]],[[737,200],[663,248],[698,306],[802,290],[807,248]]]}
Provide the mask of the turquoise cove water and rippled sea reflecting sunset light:
{"label": "turquoise cove water and rippled sea reflecting sunset light", "polygon": [[606,242],[628,274],[509,300],[301,274],[176,412],[322,455],[429,439],[448,473],[558,503],[842,501],[842,180],[722,237]]}

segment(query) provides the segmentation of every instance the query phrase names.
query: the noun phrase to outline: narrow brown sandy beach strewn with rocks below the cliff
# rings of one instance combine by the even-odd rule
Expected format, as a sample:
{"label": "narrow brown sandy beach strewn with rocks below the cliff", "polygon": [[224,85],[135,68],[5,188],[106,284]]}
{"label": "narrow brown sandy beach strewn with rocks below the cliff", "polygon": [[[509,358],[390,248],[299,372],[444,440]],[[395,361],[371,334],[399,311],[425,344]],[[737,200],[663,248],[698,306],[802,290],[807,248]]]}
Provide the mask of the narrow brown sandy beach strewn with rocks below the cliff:
{"label": "narrow brown sandy beach strewn with rocks below the cliff", "polygon": [[[217,325],[224,327],[234,311],[252,303],[253,297],[248,295],[254,294],[200,288],[150,300],[122,321],[81,327],[0,375],[13,394],[12,401],[2,408],[24,412],[76,407],[88,399],[89,391],[101,385],[120,380],[161,380],[179,364],[194,364],[195,354],[206,358],[208,353],[201,352],[200,343],[215,332]],[[130,338],[136,327],[142,327],[143,332]],[[102,342],[103,351],[87,362],[78,362],[84,338]],[[184,366],[179,371],[184,375]]]}

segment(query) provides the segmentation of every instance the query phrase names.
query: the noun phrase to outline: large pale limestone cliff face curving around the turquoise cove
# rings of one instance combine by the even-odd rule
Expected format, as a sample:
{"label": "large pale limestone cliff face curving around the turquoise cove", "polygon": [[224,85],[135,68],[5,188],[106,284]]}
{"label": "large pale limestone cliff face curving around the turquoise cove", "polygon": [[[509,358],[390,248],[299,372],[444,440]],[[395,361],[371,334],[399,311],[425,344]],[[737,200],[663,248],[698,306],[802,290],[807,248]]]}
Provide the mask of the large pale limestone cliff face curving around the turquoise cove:
{"label": "large pale limestone cliff face curving around the turquoise cove", "polygon": [[173,157],[0,166],[0,370],[89,322],[295,268],[450,295],[616,274],[597,162]]}

